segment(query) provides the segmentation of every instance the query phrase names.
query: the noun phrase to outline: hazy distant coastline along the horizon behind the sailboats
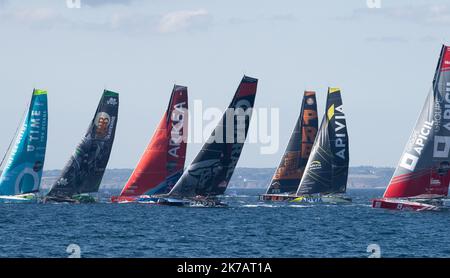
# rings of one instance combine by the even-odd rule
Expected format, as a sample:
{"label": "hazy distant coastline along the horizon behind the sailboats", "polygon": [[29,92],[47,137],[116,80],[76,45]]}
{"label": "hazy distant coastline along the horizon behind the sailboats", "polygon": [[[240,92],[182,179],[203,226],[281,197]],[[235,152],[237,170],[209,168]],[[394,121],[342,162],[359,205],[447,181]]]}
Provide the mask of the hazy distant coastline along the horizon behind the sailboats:
{"label": "hazy distant coastline along the horizon behind the sailboats", "polygon": [[[122,189],[131,175],[132,169],[107,169],[101,190],[116,191]],[[275,168],[236,168],[229,188],[266,188]],[[42,189],[49,189],[58,178],[61,170],[44,171]],[[356,166],[350,167],[348,188],[385,188],[389,183],[394,168]]]}

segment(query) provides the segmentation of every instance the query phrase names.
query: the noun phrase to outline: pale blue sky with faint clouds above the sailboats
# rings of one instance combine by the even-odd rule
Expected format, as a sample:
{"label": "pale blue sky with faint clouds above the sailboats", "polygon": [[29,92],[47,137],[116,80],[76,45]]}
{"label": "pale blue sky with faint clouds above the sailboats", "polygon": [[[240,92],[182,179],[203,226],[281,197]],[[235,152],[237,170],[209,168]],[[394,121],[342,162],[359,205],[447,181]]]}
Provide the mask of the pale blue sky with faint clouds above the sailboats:
{"label": "pale blue sky with faint clouds above the sailboats", "polygon": [[190,105],[225,109],[246,74],[259,79],[256,108],[279,109],[279,148],[246,144],[238,167],[277,166],[303,91],[322,114],[329,86],[342,89],[351,166],[395,166],[450,43],[450,3],[369,2],[0,0],[0,153],[33,88],[46,89],[45,168],[61,169],[107,88],[120,93],[108,167],[133,168],[174,83]]}

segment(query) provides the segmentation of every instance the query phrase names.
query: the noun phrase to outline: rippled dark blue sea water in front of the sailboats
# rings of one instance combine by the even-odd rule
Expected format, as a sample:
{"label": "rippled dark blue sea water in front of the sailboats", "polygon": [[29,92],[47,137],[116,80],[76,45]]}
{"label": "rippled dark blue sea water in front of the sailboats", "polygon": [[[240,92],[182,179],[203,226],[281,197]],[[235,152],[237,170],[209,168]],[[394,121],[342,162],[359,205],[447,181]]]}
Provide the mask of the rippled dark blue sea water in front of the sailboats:
{"label": "rippled dark blue sea water in front of the sailboats", "polygon": [[228,208],[145,204],[1,204],[0,257],[450,257],[450,212],[372,209],[382,190],[349,190],[351,205],[292,205],[229,190]]}

